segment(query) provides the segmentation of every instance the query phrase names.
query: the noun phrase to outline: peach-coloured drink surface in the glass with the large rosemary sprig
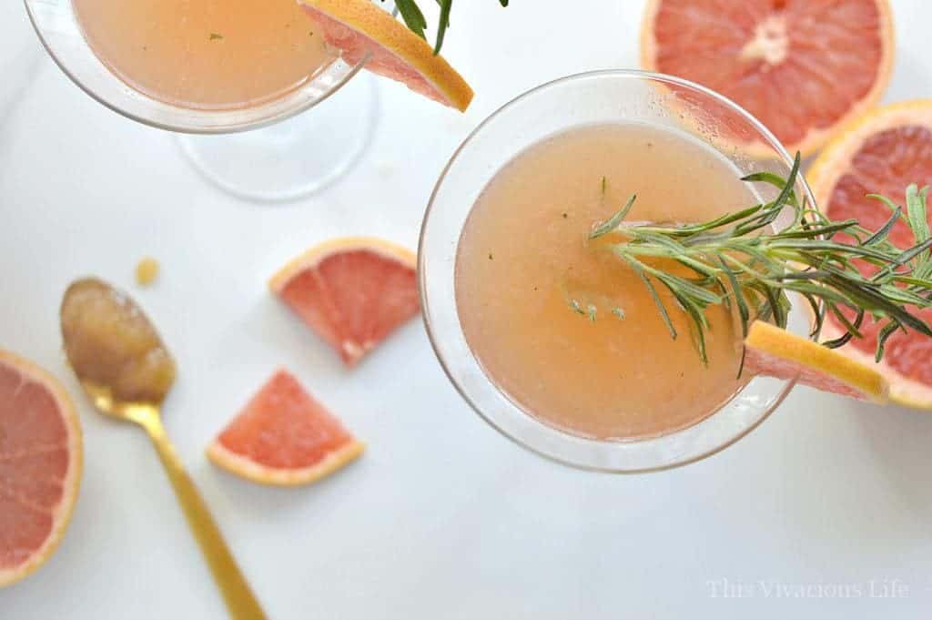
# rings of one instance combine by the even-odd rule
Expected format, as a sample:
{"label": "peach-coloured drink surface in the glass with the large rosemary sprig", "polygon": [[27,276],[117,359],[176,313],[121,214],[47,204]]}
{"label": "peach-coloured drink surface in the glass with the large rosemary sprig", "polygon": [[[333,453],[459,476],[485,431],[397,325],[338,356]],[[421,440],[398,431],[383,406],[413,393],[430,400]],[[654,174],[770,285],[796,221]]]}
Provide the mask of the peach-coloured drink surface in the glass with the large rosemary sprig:
{"label": "peach-coloured drink surface in the glass with the large rosemary sprig", "polygon": [[[743,385],[733,316],[708,311],[702,365],[672,296],[657,284],[676,340],[643,282],[605,251],[621,238],[588,241],[633,193],[629,221],[701,221],[755,201],[727,160],[691,138],[648,125],[590,126],[500,170],[459,240],[457,307],[473,354],[530,415],[572,434],[670,433]],[[573,301],[585,313],[594,306],[595,321]]]}

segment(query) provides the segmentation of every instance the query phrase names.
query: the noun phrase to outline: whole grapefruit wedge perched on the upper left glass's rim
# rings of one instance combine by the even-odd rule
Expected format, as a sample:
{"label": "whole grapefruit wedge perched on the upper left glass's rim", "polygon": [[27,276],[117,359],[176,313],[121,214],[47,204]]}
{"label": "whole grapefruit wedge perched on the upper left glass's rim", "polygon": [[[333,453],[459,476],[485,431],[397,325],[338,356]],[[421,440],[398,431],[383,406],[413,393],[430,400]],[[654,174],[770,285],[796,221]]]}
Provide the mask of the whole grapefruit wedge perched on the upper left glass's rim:
{"label": "whole grapefruit wedge perched on the upper left glass's rim", "polygon": [[367,70],[459,111],[473,101],[473,89],[442,56],[371,0],[298,2],[349,64],[365,61]]}

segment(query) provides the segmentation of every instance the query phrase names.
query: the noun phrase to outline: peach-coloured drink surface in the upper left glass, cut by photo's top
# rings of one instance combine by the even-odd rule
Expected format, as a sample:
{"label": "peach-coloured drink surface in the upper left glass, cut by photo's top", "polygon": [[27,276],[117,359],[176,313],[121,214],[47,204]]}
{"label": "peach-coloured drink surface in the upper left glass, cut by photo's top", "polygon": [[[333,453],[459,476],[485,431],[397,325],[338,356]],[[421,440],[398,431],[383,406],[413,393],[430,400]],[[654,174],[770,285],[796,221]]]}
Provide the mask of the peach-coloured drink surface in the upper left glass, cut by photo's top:
{"label": "peach-coloured drink surface in the upper left glass, cut by photo's top", "polygon": [[332,60],[295,0],[74,0],[98,58],[133,89],[199,109],[276,99]]}

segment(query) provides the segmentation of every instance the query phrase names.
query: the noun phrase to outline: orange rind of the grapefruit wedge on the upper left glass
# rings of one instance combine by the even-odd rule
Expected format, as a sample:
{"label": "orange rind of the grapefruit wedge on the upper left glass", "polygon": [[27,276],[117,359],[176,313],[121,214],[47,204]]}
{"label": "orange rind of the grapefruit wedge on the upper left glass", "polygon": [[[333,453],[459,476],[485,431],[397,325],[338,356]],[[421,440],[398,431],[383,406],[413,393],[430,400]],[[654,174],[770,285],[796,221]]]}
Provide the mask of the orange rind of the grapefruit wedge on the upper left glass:
{"label": "orange rind of the grapefruit wedge on the upper left glass", "polygon": [[[320,11],[331,20],[362,34],[397,60],[399,67],[410,67],[435,91],[429,96],[464,112],[473,101],[473,89],[442,56],[434,56],[431,46],[390,13],[370,0],[298,0],[305,7]],[[398,77],[384,74],[394,79]],[[402,80],[403,81],[403,80]],[[410,87],[410,85],[409,85]],[[428,94],[428,93],[423,93]]]}

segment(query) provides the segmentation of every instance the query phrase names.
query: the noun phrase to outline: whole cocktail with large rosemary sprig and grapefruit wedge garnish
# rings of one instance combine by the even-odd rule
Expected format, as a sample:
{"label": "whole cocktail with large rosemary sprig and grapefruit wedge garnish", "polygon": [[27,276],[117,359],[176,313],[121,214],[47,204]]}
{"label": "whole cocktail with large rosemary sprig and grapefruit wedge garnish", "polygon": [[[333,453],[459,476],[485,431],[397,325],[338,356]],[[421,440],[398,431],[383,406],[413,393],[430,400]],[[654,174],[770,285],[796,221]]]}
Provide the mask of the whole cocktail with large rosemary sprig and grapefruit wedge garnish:
{"label": "whole cocktail with large rosemary sprig and grapefruit wedge garnish", "polygon": [[900,177],[905,204],[866,196],[883,219],[832,219],[801,164],[671,76],[571,76],[505,105],[424,222],[421,296],[447,374],[519,443],[615,472],[711,454],[795,382],[901,396],[884,355],[932,338],[929,187]]}

